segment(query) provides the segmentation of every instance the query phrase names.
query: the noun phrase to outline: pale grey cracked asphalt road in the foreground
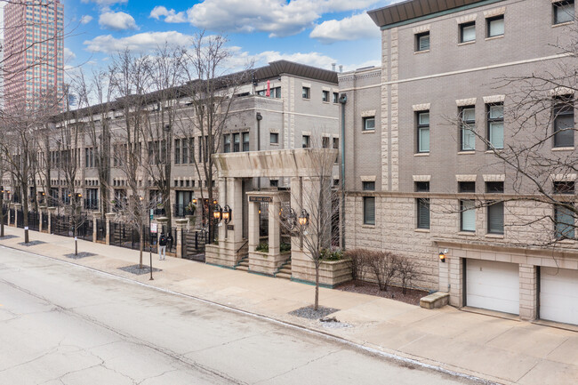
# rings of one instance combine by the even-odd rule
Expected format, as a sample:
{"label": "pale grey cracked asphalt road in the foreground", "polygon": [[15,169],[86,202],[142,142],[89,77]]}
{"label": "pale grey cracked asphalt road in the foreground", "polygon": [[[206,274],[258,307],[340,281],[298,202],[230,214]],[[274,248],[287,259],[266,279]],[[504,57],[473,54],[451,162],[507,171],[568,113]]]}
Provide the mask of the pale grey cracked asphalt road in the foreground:
{"label": "pale grey cracked asphalt road in the foreground", "polygon": [[0,384],[205,383],[470,381],[0,246]]}

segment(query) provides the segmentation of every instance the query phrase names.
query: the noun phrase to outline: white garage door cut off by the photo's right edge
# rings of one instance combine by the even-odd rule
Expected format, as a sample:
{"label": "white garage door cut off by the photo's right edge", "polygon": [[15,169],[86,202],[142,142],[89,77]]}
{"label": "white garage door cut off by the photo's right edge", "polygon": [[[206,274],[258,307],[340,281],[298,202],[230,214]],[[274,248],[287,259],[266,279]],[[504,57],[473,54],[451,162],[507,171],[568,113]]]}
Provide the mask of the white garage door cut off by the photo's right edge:
{"label": "white garage door cut off by the photo's right edge", "polygon": [[578,325],[578,270],[540,268],[540,317]]}

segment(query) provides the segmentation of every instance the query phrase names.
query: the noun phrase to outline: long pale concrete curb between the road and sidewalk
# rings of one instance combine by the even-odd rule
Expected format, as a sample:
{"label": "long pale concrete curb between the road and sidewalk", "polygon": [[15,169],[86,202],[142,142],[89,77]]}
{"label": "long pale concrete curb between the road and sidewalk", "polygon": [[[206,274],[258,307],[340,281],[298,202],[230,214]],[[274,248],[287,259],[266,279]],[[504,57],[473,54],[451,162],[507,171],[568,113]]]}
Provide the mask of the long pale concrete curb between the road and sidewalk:
{"label": "long pale concrete curb between the road and sidewalk", "polygon": [[[274,324],[284,325],[284,326],[287,326],[287,327],[291,327],[291,328],[293,328],[293,329],[300,330],[300,331],[302,331],[302,332],[306,332],[306,333],[309,333],[309,334],[316,335],[317,337],[325,337],[326,339],[333,340],[333,341],[335,341],[335,342],[339,342],[339,343],[344,344],[344,345],[347,345],[347,346],[349,346],[349,347],[351,347],[351,348],[353,348],[353,349],[365,351],[366,353],[370,353],[370,354],[373,354],[373,355],[376,355],[376,356],[379,356],[379,357],[383,357],[383,358],[389,359],[389,360],[391,360],[391,361],[396,361],[397,363],[403,363],[403,364],[405,364],[405,365],[415,365],[415,366],[419,366],[419,367],[421,367],[421,368],[423,368],[423,369],[428,369],[428,370],[431,370],[431,371],[434,371],[434,372],[438,372],[438,373],[444,373],[444,374],[447,374],[447,375],[450,375],[450,376],[453,376],[453,377],[458,377],[458,378],[462,378],[462,379],[466,379],[466,380],[470,380],[470,381],[476,381],[476,382],[481,383],[481,384],[484,384],[484,385],[502,385],[501,382],[490,381],[490,380],[486,380],[486,379],[484,379],[484,378],[482,378],[482,377],[478,377],[478,376],[476,376],[476,375],[471,375],[471,374],[467,374],[467,373],[460,373],[460,372],[456,372],[456,371],[451,370],[451,369],[446,369],[445,367],[442,366],[443,363],[440,363],[440,362],[435,362],[435,365],[433,365],[433,364],[428,364],[428,363],[425,363],[425,362],[421,362],[421,361],[420,361],[419,359],[417,359],[417,358],[404,357],[404,356],[400,356],[400,355],[395,354],[395,353],[388,353],[388,352],[386,352],[386,351],[384,351],[384,350],[375,349],[375,348],[370,348],[370,347],[368,347],[368,346],[359,344],[359,343],[357,343],[357,342],[349,341],[349,340],[347,340],[347,339],[345,339],[345,338],[343,338],[343,337],[341,337],[341,336],[338,336],[338,335],[335,335],[335,334],[332,334],[332,333],[327,333],[327,332],[324,332],[324,331],[320,331],[320,330],[311,328],[311,327],[309,327],[309,326],[295,324],[295,323],[292,323],[292,322],[289,322],[289,321],[284,321],[284,320],[277,319],[277,318],[274,318],[274,317],[265,316],[265,315],[262,315],[262,314],[260,314],[260,313],[254,313],[254,312],[247,311],[247,310],[244,310],[244,309],[238,309],[238,308],[235,308],[235,307],[233,307],[233,306],[229,306],[229,305],[222,304],[222,303],[220,303],[220,302],[211,301],[211,300],[206,300],[206,299],[204,299],[204,298],[200,298],[200,297],[197,297],[197,296],[195,296],[195,295],[186,294],[186,293],[179,293],[179,292],[175,292],[175,291],[170,290],[170,289],[165,289],[165,288],[163,288],[163,287],[157,287],[157,286],[154,286],[154,285],[149,285],[149,284],[147,284],[147,283],[140,282],[140,281],[136,281],[136,280],[131,279],[131,278],[129,278],[129,277],[119,276],[119,275],[116,275],[116,274],[114,274],[114,273],[110,273],[110,272],[108,272],[108,271],[104,271],[104,270],[100,270],[100,269],[95,269],[95,268],[92,268],[92,267],[90,267],[90,266],[84,266],[84,265],[81,265],[81,264],[76,263],[76,262],[73,262],[73,261],[60,260],[59,258],[51,257],[51,256],[48,256],[48,255],[43,255],[43,254],[40,254],[40,253],[30,252],[30,251],[28,251],[28,250],[22,250],[22,249],[19,249],[19,248],[17,248],[17,247],[13,247],[13,246],[9,246],[9,245],[2,245],[2,244],[0,244],[0,248],[12,249],[12,250],[15,250],[15,251],[18,251],[18,252],[21,252],[21,253],[28,253],[28,254],[31,254],[31,255],[36,255],[36,256],[38,256],[38,257],[45,258],[45,259],[48,259],[48,260],[59,261],[59,262],[61,262],[61,263],[65,263],[65,264],[68,264],[68,265],[72,265],[72,266],[75,266],[75,267],[77,267],[77,268],[88,269],[88,270],[91,270],[91,271],[93,271],[93,272],[95,272],[95,273],[99,273],[99,274],[104,275],[104,276],[114,277],[114,278],[116,278],[116,279],[120,279],[120,280],[129,282],[129,283],[132,283],[132,284],[141,285],[141,286],[147,287],[147,288],[149,288],[149,289],[154,289],[154,290],[157,290],[157,291],[162,292],[162,293],[169,293],[169,294],[173,294],[173,295],[179,295],[179,296],[181,296],[181,297],[185,297],[185,298],[189,298],[189,299],[191,299],[191,300],[199,301],[199,302],[202,302],[202,303],[205,303],[205,304],[208,304],[208,305],[212,305],[212,306],[217,307],[217,308],[226,309],[226,310],[233,311],[233,312],[236,312],[236,313],[239,313],[239,314],[243,314],[243,315],[248,316],[248,317],[255,317],[255,318],[259,318],[259,319],[261,319],[261,320],[268,321],[268,322],[271,322],[271,323],[274,323]],[[100,255],[100,254],[97,254],[97,255]],[[104,257],[103,255],[101,255],[101,256]],[[106,258],[106,257],[105,257],[105,258]]]}

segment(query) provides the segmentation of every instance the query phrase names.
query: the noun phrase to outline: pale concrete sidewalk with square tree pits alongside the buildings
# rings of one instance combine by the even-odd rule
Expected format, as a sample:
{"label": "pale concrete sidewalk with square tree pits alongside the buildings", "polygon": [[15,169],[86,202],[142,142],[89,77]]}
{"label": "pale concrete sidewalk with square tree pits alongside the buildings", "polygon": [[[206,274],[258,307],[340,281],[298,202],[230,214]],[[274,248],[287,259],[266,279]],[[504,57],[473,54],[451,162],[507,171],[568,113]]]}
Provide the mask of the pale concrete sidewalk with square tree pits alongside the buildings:
{"label": "pale concrete sidewalk with square tree pits alongside the buildings", "polygon": [[[72,260],[74,240],[30,231],[45,244],[24,246],[22,229],[5,228],[5,245],[127,277],[148,285],[218,302],[428,365],[504,384],[578,383],[578,333],[518,320],[489,317],[446,307],[427,310],[370,295],[320,289],[320,304],[341,309],[332,316],[349,327],[293,317],[288,312],[308,306],[313,287],[285,279],[261,277],[168,257],[153,266],[162,271],[134,276],[118,268],[138,263],[139,253],[115,246],[78,241],[78,251],[95,256]],[[0,253],[1,254],[1,253]],[[0,255],[1,258],[1,255]],[[1,261],[1,260],[0,260]],[[148,265],[149,253],[144,256]]]}

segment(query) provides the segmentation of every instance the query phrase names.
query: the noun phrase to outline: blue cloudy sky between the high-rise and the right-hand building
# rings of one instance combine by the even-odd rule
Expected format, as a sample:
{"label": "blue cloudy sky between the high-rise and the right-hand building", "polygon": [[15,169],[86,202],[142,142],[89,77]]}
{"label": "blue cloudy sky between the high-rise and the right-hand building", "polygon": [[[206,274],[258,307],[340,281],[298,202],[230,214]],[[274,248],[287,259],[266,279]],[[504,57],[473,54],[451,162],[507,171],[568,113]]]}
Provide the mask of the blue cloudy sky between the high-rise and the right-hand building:
{"label": "blue cloudy sky between the high-rise and the right-hand building", "polygon": [[129,46],[186,44],[205,29],[229,37],[239,60],[293,60],[321,68],[379,65],[379,28],[365,14],[391,0],[64,0],[67,66],[107,66]]}

